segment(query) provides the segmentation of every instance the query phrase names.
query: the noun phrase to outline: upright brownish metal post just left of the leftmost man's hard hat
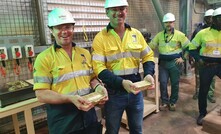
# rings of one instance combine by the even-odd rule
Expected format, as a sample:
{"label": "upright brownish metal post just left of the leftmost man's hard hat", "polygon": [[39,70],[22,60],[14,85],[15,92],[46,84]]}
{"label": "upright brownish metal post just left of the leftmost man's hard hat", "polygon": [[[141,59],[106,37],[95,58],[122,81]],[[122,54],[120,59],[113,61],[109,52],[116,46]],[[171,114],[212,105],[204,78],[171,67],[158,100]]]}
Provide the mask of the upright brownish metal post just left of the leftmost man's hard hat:
{"label": "upright brownish metal post just left of the leftmost man's hard hat", "polygon": [[40,36],[40,44],[46,45],[46,33],[45,33],[45,21],[43,15],[43,3],[42,0],[35,0],[36,10],[37,10],[37,18],[38,18],[38,28],[39,28],[39,36]]}

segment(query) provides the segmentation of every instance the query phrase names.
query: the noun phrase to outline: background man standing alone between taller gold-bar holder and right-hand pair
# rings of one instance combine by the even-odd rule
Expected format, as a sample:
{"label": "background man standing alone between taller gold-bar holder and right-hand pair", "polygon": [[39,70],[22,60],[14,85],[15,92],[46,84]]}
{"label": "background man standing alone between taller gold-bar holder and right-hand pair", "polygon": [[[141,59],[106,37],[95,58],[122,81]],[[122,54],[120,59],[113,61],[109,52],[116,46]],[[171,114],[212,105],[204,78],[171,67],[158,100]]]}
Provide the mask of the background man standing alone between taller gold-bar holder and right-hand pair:
{"label": "background man standing alone between taller gold-bar holder and right-hand pair", "polygon": [[[165,30],[159,32],[150,42],[150,47],[159,52],[160,110],[176,110],[179,80],[183,69],[183,50],[189,40],[184,33],[174,28],[175,16],[167,13],[163,17]],[[168,95],[168,80],[171,83],[171,95]]]}

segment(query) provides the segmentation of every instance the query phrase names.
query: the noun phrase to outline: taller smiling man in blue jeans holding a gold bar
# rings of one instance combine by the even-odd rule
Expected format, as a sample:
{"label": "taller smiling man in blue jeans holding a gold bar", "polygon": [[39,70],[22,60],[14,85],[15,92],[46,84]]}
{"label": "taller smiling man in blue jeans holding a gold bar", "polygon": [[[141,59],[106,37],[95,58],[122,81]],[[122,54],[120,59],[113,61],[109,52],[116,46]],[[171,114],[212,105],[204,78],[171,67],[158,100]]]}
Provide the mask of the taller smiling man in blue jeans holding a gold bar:
{"label": "taller smiling man in blue jeans holding a gold bar", "polygon": [[154,87],[154,53],[137,29],[125,23],[127,0],[106,0],[106,15],[110,22],[92,44],[93,68],[105,84],[109,101],[105,103],[106,134],[118,134],[123,112],[126,111],[131,134],[142,134],[143,94],[134,82],[141,81],[140,61],[144,80]]}

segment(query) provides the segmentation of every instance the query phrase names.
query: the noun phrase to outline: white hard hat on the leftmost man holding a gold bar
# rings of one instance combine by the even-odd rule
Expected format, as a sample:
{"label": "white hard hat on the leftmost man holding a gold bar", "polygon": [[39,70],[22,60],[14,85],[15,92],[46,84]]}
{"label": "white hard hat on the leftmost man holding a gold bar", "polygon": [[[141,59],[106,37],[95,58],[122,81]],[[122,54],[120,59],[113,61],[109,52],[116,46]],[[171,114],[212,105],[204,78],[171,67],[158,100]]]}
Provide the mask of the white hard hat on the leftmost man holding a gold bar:
{"label": "white hard hat on the leftmost man holding a gold bar", "polygon": [[48,14],[49,27],[67,23],[75,24],[75,21],[72,14],[63,8],[55,8]]}

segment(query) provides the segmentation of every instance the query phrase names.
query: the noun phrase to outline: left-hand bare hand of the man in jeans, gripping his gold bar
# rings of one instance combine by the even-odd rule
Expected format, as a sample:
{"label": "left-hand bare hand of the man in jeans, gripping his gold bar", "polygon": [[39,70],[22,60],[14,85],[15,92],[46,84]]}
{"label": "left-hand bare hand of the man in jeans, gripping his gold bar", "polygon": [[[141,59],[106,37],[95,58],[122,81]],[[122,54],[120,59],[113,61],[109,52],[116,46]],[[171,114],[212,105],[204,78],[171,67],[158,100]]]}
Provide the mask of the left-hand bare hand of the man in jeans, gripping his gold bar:
{"label": "left-hand bare hand of the man in jeans, gripping his gold bar", "polygon": [[123,80],[122,85],[128,93],[138,94],[140,90],[135,90],[136,86],[130,80]]}

